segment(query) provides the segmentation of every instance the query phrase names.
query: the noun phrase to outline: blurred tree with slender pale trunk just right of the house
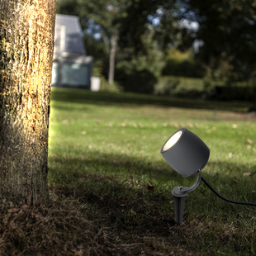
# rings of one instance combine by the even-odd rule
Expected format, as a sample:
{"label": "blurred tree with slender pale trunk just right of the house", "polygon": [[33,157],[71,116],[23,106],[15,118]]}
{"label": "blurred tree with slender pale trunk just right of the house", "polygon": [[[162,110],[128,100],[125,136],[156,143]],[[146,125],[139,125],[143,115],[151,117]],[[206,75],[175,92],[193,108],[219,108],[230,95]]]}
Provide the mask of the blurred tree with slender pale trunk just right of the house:
{"label": "blurred tree with slender pale trunk just right of the house", "polygon": [[58,12],[64,14],[77,13],[81,18],[83,27],[90,24],[90,29],[94,27],[98,36],[102,37],[105,50],[109,58],[108,83],[114,82],[115,58],[118,46],[119,33],[122,17],[126,17],[127,5],[129,0],[78,0],[73,9],[69,9],[72,3],[70,1],[59,2]]}

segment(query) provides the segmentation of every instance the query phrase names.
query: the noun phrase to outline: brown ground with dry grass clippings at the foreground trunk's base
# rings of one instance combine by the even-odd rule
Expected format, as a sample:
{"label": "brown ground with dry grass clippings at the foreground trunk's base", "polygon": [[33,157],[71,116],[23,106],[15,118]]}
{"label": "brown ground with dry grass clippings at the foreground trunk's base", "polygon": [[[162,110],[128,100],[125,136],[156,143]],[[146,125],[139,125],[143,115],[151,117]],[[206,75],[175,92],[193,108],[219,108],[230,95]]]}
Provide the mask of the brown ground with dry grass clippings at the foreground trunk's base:
{"label": "brown ground with dry grass clippings at the foreground trunk's base", "polygon": [[[212,231],[216,233],[214,248],[243,246],[234,240],[235,229],[223,233],[216,224],[198,220],[177,225],[173,212],[155,211],[161,197],[151,197],[145,203],[139,194],[132,201],[113,201],[90,192],[76,192],[72,200],[79,197],[79,210],[70,205],[67,196],[71,191],[54,192],[69,200],[0,216],[1,255],[209,255],[210,244],[200,241],[207,235],[212,239]],[[94,210],[81,207],[92,203]]]}

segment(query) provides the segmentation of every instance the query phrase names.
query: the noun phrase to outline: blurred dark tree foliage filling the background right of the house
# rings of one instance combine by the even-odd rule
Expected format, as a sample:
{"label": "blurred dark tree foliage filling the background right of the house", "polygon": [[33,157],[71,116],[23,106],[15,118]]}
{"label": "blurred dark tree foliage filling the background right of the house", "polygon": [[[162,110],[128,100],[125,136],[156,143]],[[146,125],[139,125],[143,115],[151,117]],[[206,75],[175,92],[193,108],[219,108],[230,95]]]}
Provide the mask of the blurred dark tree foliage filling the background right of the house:
{"label": "blurred dark tree foliage filling the background right of the house", "polygon": [[[154,31],[154,50],[162,51],[167,60],[164,74],[200,77],[205,69],[207,78],[223,83],[254,79],[254,0],[59,0],[59,12],[80,17],[88,52],[97,56],[96,64],[105,76],[113,35],[118,39],[116,78],[124,81],[131,70],[138,72],[141,56],[154,67],[156,59],[146,57],[149,47],[145,43],[145,35]],[[193,56],[182,63],[183,54],[177,59],[177,50],[189,50]]]}

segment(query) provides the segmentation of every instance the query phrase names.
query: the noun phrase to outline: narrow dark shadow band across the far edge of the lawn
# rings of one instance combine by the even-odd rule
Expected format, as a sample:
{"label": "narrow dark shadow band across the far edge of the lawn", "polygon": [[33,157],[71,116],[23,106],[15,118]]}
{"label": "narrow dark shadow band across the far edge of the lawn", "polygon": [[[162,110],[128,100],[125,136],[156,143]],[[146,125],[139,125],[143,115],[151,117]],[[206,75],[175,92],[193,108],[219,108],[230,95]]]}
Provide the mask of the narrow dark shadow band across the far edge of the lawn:
{"label": "narrow dark shadow band across the far edge of the lawn", "polygon": [[241,112],[248,111],[253,105],[252,102],[216,102],[201,99],[160,97],[135,93],[91,92],[75,88],[53,88],[51,92],[51,100],[57,102],[92,103],[97,105],[154,105],[211,110],[217,107],[219,110]]}

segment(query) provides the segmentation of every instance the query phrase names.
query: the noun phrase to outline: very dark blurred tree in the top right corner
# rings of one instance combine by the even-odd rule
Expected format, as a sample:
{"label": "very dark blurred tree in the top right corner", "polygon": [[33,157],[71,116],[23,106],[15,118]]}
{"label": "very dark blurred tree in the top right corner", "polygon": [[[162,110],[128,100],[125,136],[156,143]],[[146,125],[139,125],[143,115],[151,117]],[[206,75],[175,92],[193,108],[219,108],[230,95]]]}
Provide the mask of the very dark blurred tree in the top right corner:
{"label": "very dark blurred tree in the top right corner", "polygon": [[200,42],[198,57],[211,78],[226,82],[254,78],[256,5],[253,0],[183,1],[180,18],[196,21],[190,35]]}

